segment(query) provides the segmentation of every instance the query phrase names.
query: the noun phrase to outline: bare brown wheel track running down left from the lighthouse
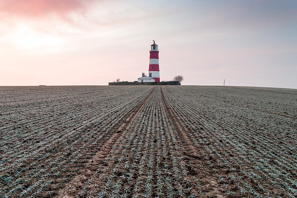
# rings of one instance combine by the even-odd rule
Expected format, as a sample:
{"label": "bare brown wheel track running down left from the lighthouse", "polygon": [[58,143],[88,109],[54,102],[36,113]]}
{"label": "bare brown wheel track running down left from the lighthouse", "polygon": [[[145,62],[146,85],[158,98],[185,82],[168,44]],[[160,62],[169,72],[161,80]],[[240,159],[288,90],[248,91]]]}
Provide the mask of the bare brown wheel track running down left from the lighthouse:
{"label": "bare brown wheel track running down left from the lighthouse", "polygon": [[116,132],[110,136],[110,138],[100,147],[99,151],[91,158],[87,163],[84,164],[85,168],[81,169],[78,174],[73,177],[71,181],[69,181],[64,188],[60,188],[57,191],[57,195],[55,198],[72,198],[75,197],[75,195],[79,192],[78,186],[81,185],[81,183],[84,183],[86,180],[89,179],[89,177],[92,174],[92,167],[94,165],[97,165],[99,163],[102,163],[105,157],[110,153],[113,145],[116,143],[116,141],[121,137],[123,134],[123,131],[128,127],[129,123],[132,121],[132,119],[135,117],[137,112],[143,107],[143,105],[146,104],[146,102],[149,100],[151,95],[153,94],[156,86],[152,89],[151,93],[143,100],[143,102],[137,107],[135,110],[132,110],[132,113],[128,116],[126,121],[124,121],[120,127],[116,130]]}

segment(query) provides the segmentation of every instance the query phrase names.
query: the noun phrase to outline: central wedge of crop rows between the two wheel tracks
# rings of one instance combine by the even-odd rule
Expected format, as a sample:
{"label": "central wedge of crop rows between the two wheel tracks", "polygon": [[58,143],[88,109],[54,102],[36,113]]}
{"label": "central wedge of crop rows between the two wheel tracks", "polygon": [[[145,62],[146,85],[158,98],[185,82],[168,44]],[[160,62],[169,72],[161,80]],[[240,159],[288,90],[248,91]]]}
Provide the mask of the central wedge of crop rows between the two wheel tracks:
{"label": "central wedge of crop rows between the two wheel tracks", "polygon": [[[205,184],[189,170],[183,139],[158,86],[104,158],[94,156],[80,184],[58,197],[196,197]],[[100,156],[101,153],[98,153]],[[190,155],[190,154],[189,154]],[[205,175],[203,175],[205,176]],[[73,190],[76,186],[77,190]],[[71,187],[71,188],[70,188]]]}

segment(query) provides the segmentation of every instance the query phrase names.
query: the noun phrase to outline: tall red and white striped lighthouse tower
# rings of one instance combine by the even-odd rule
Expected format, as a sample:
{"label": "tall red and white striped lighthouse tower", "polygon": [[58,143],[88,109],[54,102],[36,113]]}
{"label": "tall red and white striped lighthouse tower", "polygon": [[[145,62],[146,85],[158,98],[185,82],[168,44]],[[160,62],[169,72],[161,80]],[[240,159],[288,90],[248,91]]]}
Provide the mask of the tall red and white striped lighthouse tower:
{"label": "tall red and white striped lighthouse tower", "polygon": [[151,77],[155,79],[155,82],[160,82],[159,50],[155,41],[151,45],[151,50],[149,51],[149,73],[151,73]]}

